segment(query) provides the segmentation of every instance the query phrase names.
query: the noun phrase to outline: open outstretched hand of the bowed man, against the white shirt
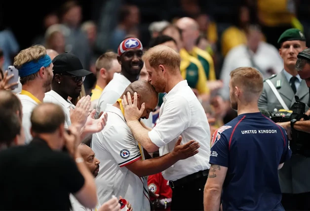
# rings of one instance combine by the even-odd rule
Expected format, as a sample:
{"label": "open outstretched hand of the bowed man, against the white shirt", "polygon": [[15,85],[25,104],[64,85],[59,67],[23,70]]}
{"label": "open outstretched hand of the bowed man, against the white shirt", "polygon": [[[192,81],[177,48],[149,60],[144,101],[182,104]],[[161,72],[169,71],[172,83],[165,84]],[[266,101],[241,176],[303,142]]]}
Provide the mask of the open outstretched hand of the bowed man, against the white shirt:
{"label": "open outstretched hand of the bowed man, against the white shirt", "polygon": [[187,159],[198,153],[197,149],[200,147],[200,145],[197,141],[192,140],[183,145],[181,145],[181,141],[182,137],[179,136],[179,139],[174,145],[174,149],[172,151],[173,155],[176,156],[179,160]]}

